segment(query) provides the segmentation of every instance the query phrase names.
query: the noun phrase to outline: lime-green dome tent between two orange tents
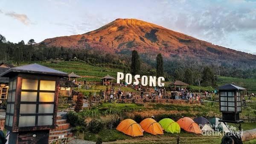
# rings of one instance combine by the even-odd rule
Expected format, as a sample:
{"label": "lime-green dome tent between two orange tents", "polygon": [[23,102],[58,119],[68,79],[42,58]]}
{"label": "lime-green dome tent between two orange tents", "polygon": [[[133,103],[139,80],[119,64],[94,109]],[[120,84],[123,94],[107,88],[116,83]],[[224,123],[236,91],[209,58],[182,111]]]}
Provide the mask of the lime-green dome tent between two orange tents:
{"label": "lime-green dome tent between two orange tents", "polygon": [[173,121],[171,118],[164,118],[159,121],[159,124],[163,127],[166,132],[180,133],[180,125]]}

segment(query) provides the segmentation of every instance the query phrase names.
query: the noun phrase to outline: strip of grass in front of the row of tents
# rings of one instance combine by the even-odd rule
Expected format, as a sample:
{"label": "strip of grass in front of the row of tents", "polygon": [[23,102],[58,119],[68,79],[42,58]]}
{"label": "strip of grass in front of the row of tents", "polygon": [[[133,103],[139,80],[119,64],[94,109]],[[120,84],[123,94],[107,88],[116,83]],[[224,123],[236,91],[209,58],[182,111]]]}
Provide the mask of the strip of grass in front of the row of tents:
{"label": "strip of grass in front of the row of tents", "polygon": [[[118,141],[118,143],[126,144],[154,144],[154,143],[176,143],[176,137],[180,135],[180,143],[193,144],[193,143],[206,143],[215,144],[221,141],[221,136],[204,136],[196,135],[194,133],[181,131],[180,134],[171,134],[165,132],[164,135],[151,135],[144,133],[143,137],[131,137],[123,134],[117,130],[102,130],[98,134],[87,132],[84,134],[84,140],[97,141],[101,138],[103,142]],[[210,141],[210,142],[209,142]],[[112,144],[115,144],[113,142]]]}

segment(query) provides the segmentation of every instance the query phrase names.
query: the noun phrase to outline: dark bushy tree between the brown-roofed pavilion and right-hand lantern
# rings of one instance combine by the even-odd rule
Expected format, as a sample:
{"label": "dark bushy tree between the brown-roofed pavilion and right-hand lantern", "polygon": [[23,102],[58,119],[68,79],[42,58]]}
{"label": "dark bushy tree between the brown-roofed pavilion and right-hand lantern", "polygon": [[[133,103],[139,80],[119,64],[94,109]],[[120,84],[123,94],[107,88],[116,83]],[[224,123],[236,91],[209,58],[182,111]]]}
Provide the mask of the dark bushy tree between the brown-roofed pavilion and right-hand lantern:
{"label": "dark bushy tree between the brown-roofed pavilion and right-hand lantern", "polygon": [[202,79],[202,84],[204,86],[216,86],[216,77],[212,72],[212,69],[210,69],[208,66],[204,67]]}

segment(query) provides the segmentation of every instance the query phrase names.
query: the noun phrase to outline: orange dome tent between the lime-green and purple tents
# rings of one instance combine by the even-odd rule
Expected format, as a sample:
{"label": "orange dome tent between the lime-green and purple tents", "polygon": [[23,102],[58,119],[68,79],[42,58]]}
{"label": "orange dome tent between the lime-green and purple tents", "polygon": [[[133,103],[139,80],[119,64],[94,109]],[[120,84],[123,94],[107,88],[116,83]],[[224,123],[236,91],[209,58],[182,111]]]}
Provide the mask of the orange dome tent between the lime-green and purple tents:
{"label": "orange dome tent between the lime-green and purple tents", "polygon": [[185,117],[180,118],[177,123],[180,125],[180,128],[186,130],[187,132],[193,132],[196,134],[202,134],[202,131],[198,124],[195,123],[191,118]]}

